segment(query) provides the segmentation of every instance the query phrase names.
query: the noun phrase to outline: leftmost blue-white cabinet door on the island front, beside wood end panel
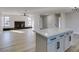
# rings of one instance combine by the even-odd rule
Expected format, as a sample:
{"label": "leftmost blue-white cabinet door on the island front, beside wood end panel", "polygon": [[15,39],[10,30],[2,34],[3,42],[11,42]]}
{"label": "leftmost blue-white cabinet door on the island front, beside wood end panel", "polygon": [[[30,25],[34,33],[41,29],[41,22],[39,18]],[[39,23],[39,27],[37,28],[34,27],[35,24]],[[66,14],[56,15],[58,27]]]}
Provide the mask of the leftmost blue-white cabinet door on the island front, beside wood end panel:
{"label": "leftmost blue-white cabinet door on the island front, beside wood end panel", "polygon": [[57,51],[56,42],[57,42],[56,38],[48,40],[48,46],[47,46],[48,52],[56,52]]}

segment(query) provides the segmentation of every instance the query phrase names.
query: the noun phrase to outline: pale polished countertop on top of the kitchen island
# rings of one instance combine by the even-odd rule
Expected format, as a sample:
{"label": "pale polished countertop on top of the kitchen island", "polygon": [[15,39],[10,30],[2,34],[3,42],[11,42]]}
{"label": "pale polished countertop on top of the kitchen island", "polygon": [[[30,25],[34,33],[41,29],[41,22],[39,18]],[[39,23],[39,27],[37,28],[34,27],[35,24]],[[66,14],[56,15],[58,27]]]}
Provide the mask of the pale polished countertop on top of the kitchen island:
{"label": "pale polished countertop on top of the kitchen island", "polygon": [[34,30],[34,32],[48,38],[54,35],[62,34],[65,32],[73,32],[71,29],[59,29],[59,28],[48,28],[48,29],[43,29],[43,30]]}

